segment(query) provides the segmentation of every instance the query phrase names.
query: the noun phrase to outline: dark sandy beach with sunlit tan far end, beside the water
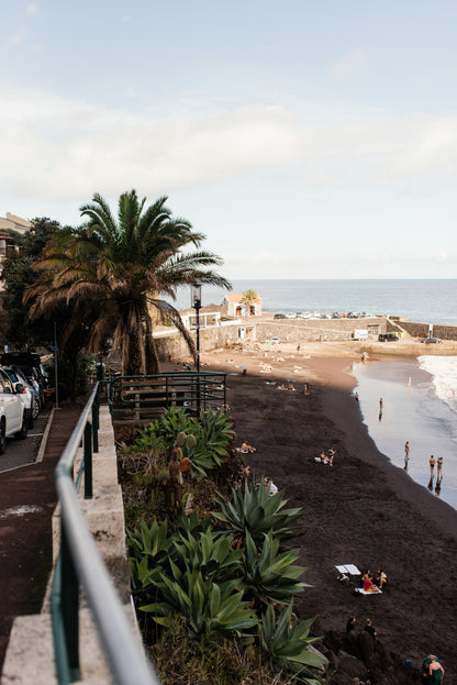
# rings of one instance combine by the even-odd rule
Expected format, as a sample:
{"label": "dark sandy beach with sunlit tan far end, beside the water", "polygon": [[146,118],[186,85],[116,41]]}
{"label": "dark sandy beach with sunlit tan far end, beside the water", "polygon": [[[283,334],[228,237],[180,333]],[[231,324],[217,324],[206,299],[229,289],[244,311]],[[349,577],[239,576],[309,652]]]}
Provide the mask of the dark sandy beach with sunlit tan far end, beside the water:
{"label": "dark sandy beach with sunlit tan far end, beside the water", "polygon": [[[321,344],[300,353],[283,345],[272,352],[225,349],[203,361],[228,374],[238,439],[257,449],[250,466],[303,509],[296,544],[312,587],[298,601],[300,616],[317,616],[321,633],[344,630],[352,614],[360,628],[370,617],[389,650],[417,667],[434,652],[446,682],[457,682],[457,512],[376,449],[345,373],[352,358],[344,347]],[[278,390],[288,379],[297,391]],[[330,448],[336,449],[334,466],[316,464]],[[382,566],[387,590],[354,596],[336,579],[335,565],[346,563],[374,572]]]}

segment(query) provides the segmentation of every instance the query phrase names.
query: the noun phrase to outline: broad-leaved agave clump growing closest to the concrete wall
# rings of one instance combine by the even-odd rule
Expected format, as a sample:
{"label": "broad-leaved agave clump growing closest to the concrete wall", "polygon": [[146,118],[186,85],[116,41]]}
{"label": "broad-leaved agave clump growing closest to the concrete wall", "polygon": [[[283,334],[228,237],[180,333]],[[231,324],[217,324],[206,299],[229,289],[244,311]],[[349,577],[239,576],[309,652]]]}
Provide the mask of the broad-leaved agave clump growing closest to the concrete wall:
{"label": "broad-leaved agave clump growing closest to the concrete wall", "polygon": [[166,523],[153,523],[129,534],[129,540],[135,595],[142,601],[154,598],[140,609],[157,623],[170,627],[174,617],[181,616],[191,639],[250,634],[246,631],[257,618],[237,589],[242,552],[232,549],[228,535],[215,537],[208,528],[196,534],[181,529],[167,538]]}

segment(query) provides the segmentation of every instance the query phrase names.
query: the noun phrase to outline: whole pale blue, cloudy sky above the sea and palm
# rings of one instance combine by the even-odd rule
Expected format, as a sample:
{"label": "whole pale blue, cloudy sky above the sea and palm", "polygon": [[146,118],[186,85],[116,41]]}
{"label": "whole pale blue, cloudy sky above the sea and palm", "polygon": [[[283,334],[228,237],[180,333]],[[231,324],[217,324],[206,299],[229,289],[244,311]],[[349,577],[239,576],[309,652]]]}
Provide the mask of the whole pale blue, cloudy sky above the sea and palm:
{"label": "whole pale blue, cloudy sky above the sea and palm", "polygon": [[455,0],[0,0],[0,216],[134,188],[233,279],[457,277]]}

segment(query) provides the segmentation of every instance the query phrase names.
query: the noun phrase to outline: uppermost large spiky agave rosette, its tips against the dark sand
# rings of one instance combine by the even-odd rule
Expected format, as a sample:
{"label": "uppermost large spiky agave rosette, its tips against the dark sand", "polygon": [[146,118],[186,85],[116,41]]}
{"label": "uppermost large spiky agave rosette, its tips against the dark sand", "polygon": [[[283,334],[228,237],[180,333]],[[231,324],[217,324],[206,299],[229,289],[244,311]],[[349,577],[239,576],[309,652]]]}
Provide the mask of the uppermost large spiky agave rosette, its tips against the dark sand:
{"label": "uppermost large spiky agave rosette, its tips against the dark sand", "polygon": [[269,531],[281,540],[293,537],[291,526],[300,518],[301,509],[283,509],[288,500],[283,499],[282,493],[271,497],[269,486],[264,485],[264,478],[258,488],[246,480],[244,494],[232,488],[232,499],[233,504],[219,495],[216,502],[220,511],[213,511],[213,517],[225,523],[227,532],[235,535],[238,545],[246,540],[247,533],[258,548],[264,542],[264,534]]}

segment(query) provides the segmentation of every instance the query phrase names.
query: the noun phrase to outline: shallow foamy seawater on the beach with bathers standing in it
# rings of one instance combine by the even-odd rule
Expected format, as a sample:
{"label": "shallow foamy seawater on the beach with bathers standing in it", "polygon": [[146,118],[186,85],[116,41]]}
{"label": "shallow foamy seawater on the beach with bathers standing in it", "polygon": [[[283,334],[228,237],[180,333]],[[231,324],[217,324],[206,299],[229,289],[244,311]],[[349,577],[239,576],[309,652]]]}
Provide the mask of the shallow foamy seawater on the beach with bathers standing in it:
{"label": "shallow foamy seawater on the beach with bathers standing in it", "polygon": [[[457,357],[355,362],[353,374],[363,420],[378,450],[457,509]],[[436,464],[431,478],[432,454],[435,461],[443,457],[441,479]]]}

